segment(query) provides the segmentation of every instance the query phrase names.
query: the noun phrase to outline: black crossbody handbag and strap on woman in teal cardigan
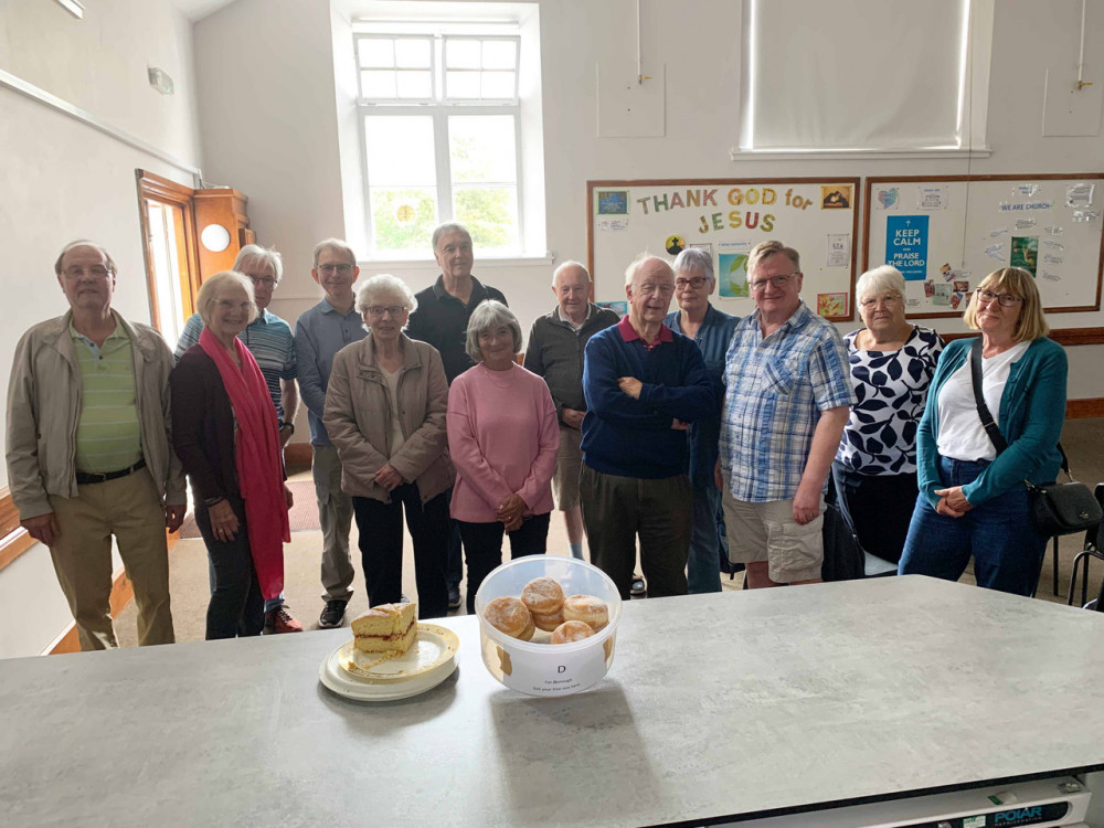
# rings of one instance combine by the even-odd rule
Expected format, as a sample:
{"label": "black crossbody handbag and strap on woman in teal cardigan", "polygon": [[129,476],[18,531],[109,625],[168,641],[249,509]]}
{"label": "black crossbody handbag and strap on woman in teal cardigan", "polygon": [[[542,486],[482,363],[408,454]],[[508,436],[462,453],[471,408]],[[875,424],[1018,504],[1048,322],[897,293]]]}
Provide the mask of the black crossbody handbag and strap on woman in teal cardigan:
{"label": "black crossbody handbag and strap on woman in teal cardigan", "polygon": [[[989,406],[985,404],[981,395],[981,339],[974,340],[969,353],[970,380],[974,383],[974,402],[977,404],[977,415],[981,418],[985,433],[989,435],[994,448],[999,455],[1008,443],[992,421]],[[1062,455],[1062,470],[1070,478],[1070,482],[1044,484],[1042,486],[1025,480],[1028,487],[1028,505],[1031,509],[1031,521],[1036,529],[1049,538],[1057,534],[1074,534],[1083,532],[1098,526],[1101,518],[1101,505],[1096,502],[1093,492],[1083,482],[1073,479],[1070,473],[1070,461],[1065,457],[1065,449],[1062,444],[1058,444],[1058,450]]]}

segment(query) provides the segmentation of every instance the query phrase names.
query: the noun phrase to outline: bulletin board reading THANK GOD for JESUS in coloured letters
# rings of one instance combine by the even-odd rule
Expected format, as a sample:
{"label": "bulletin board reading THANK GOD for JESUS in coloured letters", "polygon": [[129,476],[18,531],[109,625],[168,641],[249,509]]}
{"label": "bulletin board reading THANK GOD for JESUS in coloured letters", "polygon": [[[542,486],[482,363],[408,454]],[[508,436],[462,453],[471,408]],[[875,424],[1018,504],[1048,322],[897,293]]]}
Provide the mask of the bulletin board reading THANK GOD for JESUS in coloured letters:
{"label": "bulletin board reading THANK GOD for JESUS in coloured letters", "polygon": [[[755,309],[747,254],[777,238],[802,256],[802,298],[831,321],[854,308],[859,179],[672,179],[587,181],[587,266],[594,299],[624,311],[625,268],[641,252],[673,258],[686,247],[713,256],[710,301],[729,314]],[[672,302],[673,308],[673,302]]]}

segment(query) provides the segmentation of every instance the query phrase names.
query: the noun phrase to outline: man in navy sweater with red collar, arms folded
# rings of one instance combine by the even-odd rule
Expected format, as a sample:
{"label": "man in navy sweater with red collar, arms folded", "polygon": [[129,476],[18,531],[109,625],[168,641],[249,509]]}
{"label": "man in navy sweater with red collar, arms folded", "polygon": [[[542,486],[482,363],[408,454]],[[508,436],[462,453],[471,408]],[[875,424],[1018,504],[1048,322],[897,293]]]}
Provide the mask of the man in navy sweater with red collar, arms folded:
{"label": "man in navy sweater with red collar, arms folded", "polygon": [[689,423],[714,415],[714,392],[692,339],[664,317],[675,272],[641,256],[625,272],[628,316],[595,333],[583,369],[580,495],[591,561],[628,599],[640,565],[652,597],[687,594],[692,488]]}

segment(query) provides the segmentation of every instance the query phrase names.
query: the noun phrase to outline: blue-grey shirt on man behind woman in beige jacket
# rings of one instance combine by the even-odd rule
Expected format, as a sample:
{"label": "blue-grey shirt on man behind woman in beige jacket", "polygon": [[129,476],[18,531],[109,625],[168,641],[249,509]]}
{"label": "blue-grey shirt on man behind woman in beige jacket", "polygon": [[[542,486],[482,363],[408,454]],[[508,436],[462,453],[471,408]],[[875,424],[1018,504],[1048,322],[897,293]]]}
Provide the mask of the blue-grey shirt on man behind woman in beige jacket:
{"label": "blue-grey shirt on man behind woman in beige jacket", "polygon": [[329,300],[322,299],[304,312],[295,323],[295,349],[299,368],[299,396],[307,406],[310,445],[329,446],[330,435],[322,425],[326,388],[330,382],[333,357],[352,342],[368,336],[364,320],[357,308],[341,315]]}

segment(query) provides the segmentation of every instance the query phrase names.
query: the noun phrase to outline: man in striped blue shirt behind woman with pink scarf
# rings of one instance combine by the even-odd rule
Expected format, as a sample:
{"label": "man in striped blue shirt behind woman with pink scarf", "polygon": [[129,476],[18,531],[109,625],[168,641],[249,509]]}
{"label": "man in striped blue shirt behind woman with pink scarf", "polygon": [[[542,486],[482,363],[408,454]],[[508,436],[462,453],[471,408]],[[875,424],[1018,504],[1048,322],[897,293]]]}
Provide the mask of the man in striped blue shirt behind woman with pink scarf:
{"label": "man in striped blue shirt behind woman with pink scarf", "polygon": [[[287,445],[295,434],[295,414],[299,410],[299,392],[295,386],[297,374],[295,361],[295,335],[291,327],[278,316],[268,310],[273,294],[279,287],[284,276],[284,257],[272,247],[258,244],[247,244],[242,247],[234,259],[233,268],[244,274],[253,283],[253,291],[257,302],[257,318],[237,335],[250,353],[257,361],[268,395],[276,406],[276,418],[279,421],[279,444]],[[177,350],[172,358],[176,362],[184,355],[184,351],[199,344],[203,332],[203,319],[193,314],[184,325]],[[214,565],[211,565],[211,588],[214,590]],[[265,601],[266,633],[301,633],[302,625],[288,612],[284,595]]]}

